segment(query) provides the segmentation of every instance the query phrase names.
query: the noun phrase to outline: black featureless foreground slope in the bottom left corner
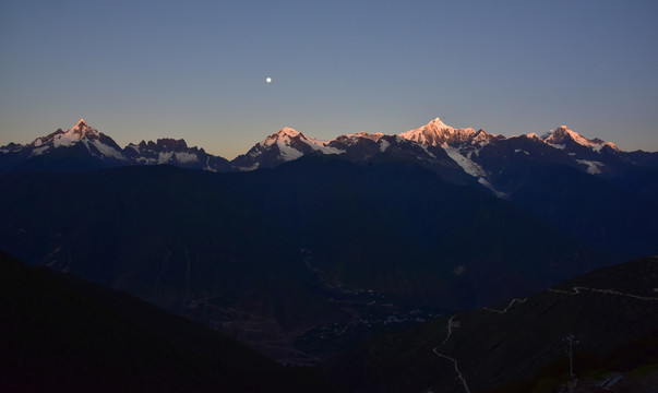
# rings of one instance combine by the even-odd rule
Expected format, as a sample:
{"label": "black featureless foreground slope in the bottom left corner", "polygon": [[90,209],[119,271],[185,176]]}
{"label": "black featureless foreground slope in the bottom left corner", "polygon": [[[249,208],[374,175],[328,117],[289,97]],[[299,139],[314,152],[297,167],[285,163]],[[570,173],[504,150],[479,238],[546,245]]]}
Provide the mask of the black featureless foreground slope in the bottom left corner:
{"label": "black featureless foreground slope in the bottom left corner", "polygon": [[155,306],[0,252],[2,392],[327,391]]}

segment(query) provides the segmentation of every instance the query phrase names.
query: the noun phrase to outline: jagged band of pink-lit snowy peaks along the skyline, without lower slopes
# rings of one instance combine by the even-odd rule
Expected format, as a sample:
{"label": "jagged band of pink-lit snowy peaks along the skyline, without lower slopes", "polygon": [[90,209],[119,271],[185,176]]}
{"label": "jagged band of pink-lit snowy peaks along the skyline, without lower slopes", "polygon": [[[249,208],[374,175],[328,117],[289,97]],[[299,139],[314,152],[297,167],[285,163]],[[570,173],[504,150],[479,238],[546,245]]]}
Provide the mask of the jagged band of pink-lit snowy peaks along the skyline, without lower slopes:
{"label": "jagged band of pink-lit snowy peaks along the skyline, without lower slopes", "polygon": [[[613,143],[586,139],[560,126],[541,136],[505,138],[472,128],[455,129],[436,118],[428,124],[397,135],[351,133],[331,141],[307,136],[291,128],[267,136],[246,154],[228,162],[189,147],[183,140],[158,139],[131,143],[121,148],[108,135],[81,119],[73,128],[58,129],[26,145],[0,147],[0,170],[91,170],[125,165],[171,164],[212,171],[272,168],[308,154],[338,155],[349,160],[368,160],[386,153],[411,159],[439,172],[459,172],[499,196],[513,192],[501,181],[505,168],[500,160],[563,164],[606,178],[614,178],[629,166],[658,167],[658,154],[621,152]],[[455,175],[456,176],[456,175]]]}

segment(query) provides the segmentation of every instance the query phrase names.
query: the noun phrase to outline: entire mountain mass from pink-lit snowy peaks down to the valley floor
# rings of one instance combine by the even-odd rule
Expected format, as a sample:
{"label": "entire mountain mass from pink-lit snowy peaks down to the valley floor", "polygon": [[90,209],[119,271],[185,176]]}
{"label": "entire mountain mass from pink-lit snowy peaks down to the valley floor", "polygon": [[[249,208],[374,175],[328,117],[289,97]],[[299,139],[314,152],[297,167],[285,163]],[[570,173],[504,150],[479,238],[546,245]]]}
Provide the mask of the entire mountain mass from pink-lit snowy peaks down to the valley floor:
{"label": "entire mountain mass from pink-lit snowy peaks down to the valley floor", "polygon": [[0,250],[310,365],[376,333],[658,253],[658,153],[440,119],[228,162],[81,120],[0,148]]}

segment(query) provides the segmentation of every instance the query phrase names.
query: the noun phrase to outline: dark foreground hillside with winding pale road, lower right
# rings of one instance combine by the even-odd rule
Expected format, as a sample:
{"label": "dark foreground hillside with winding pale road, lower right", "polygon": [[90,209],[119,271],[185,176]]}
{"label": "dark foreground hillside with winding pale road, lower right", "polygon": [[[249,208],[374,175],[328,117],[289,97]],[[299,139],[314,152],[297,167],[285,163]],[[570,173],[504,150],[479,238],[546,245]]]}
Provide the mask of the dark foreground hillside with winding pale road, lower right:
{"label": "dark foreground hillside with winding pale road, lower right", "polygon": [[581,379],[655,377],[657,283],[658,257],[599,269],[528,298],[372,340],[325,371],[351,392],[530,392],[547,381],[559,389],[569,370],[564,337],[573,334]]}

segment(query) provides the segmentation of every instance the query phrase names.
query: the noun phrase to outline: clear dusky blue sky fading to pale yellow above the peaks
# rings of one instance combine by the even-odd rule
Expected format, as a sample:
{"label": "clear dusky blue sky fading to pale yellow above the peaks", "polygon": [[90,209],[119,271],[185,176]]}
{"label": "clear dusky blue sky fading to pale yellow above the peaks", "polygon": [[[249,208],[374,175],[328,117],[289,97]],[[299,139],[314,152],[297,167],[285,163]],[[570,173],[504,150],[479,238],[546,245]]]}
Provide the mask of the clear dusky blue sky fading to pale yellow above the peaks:
{"label": "clear dusky blue sky fading to pale yellow above the peaks", "polygon": [[0,0],[0,145],[84,117],[230,159],[286,126],[441,117],[658,151],[657,20],[658,1]]}

